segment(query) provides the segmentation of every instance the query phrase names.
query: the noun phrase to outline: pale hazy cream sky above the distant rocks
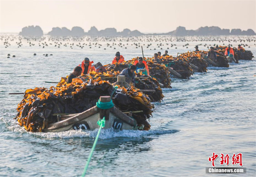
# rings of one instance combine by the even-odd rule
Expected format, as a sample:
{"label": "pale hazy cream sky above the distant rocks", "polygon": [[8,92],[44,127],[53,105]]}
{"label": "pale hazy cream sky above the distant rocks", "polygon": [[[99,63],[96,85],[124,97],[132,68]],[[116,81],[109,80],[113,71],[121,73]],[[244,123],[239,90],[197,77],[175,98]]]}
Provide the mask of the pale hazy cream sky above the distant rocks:
{"label": "pale hazy cream sky above the distant rocks", "polygon": [[178,26],[197,29],[219,26],[256,31],[256,0],[251,1],[56,1],[0,0],[0,32],[20,32],[38,25],[44,33],[52,27],[79,26],[87,32],[115,27],[143,33],[170,32]]}

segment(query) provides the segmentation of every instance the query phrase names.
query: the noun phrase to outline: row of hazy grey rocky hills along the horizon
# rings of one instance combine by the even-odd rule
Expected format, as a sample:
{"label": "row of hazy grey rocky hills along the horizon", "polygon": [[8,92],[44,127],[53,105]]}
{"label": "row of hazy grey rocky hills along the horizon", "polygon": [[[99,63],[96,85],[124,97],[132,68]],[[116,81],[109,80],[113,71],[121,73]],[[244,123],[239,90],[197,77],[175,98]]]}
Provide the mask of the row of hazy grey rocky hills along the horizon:
{"label": "row of hazy grey rocky hills along the horizon", "polygon": [[[41,31],[40,31],[40,30]],[[40,31],[40,33],[39,33]],[[40,27],[29,26],[22,28],[20,35],[33,36],[35,34],[43,35],[43,31]],[[252,29],[247,31],[242,31],[241,29],[221,29],[220,27],[200,27],[197,30],[186,30],[185,27],[177,27],[176,30],[161,33],[161,34],[143,34],[138,30],[131,31],[130,29],[124,29],[122,32],[117,32],[116,28],[106,28],[103,30],[98,30],[96,27],[91,27],[91,29],[86,33],[81,27],[73,27],[69,30],[66,27],[54,27],[52,31],[48,33],[51,36],[140,36],[140,35],[173,35],[173,36],[193,36],[193,35],[255,35]]]}

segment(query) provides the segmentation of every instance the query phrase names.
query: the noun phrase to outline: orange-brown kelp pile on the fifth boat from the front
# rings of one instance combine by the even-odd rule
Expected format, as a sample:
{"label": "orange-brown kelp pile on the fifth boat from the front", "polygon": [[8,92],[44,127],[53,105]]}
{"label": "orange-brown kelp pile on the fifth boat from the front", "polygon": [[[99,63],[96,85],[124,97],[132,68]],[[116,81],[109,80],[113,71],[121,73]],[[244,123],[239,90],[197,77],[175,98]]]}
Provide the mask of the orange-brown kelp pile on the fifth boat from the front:
{"label": "orange-brown kelp pile on the fifth boat from the front", "polygon": [[199,68],[198,72],[203,73],[207,72],[207,63],[206,61],[201,58],[200,53],[196,52],[187,52],[187,53],[182,53],[178,57],[183,58],[187,63],[191,63]]}

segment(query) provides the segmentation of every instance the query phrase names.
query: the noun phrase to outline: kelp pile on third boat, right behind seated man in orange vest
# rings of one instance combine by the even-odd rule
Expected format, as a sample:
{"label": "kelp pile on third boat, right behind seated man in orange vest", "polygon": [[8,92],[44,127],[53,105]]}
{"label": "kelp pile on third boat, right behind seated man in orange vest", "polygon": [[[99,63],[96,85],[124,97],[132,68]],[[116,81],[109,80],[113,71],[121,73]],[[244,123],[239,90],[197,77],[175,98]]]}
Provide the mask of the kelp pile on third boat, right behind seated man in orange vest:
{"label": "kelp pile on third boat, right behind seated man in orange vest", "polygon": [[158,82],[164,85],[164,88],[171,87],[170,72],[165,65],[154,63],[153,61],[148,60],[148,69],[151,77],[156,78]]}

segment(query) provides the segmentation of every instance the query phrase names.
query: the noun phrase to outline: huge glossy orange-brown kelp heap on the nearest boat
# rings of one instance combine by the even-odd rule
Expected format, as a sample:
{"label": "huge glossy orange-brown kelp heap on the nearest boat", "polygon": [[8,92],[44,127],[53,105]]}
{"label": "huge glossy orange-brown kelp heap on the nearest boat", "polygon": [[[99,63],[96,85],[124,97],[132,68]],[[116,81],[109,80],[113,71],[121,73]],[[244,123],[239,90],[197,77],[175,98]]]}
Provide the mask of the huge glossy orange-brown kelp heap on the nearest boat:
{"label": "huge glossy orange-brown kelp heap on the nearest boat", "polygon": [[[100,78],[99,78],[100,80]],[[20,126],[30,132],[43,132],[49,124],[57,122],[56,113],[80,113],[96,105],[100,96],[110,96],[113,92],[113,103],[121,111],[143,111],[133,113],[138,126],[149,130],[147,121],[154,106],[150,99],[140,91],[131,88],[118,88],[108,81],[73,79],[72,83],[59,87],[28,89],[18,104],[15,119]]]}

